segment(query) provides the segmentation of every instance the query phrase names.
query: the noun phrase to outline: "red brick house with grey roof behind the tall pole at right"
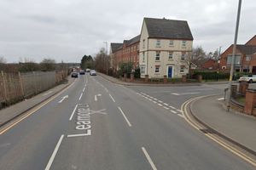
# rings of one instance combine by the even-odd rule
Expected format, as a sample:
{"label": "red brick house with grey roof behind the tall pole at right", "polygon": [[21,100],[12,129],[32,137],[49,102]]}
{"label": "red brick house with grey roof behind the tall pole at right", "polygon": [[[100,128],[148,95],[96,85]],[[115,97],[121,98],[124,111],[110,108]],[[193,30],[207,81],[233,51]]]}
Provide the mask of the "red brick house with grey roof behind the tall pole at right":
{"label": "red brick house with grey roof behind the tall pole at right", "polygon": [[[220,69],[230,70],[233,44],[220,55]],[[256,74],[256,36],[252,37],[245,44],[236,45],[236,56],[234,63],[236,72],[252,72]]]}

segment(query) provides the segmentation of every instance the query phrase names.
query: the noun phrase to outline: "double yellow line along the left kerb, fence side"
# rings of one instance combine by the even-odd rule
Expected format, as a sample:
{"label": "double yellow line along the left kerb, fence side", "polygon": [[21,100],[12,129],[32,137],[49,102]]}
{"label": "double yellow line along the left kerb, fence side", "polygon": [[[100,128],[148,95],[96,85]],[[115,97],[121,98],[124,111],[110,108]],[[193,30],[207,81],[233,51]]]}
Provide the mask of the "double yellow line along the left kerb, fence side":
{"label": "double yellow line along the left kerb, fence side", "polygon": [[33,107],[30,111],[26,111],[26,113],[24,113],[23,116],[21,116],[20,118],[17,118],[17,120],[10,122],[10,124],[7,127],[3,127],[2,129],[0,129],[0,135],[2,135],[3,133],[6,133],[10,128],[15,127],[18,123],[20,123],[21,121],[23,121],[24,119],[26,119],[26,117],[31,116],[33,113],[35,113],[36,111],[38,111],[39,109],[41,109],[42,107],[44,107],[44,105],[47,105],[50,101],[52,101],[53,99],[55,99],[56,97],[58,97],[60,94],[62,94],[65,90],[67,90],[67,88],[70,88],[71,86],[73,86],[72,82],[71,84],[69,84],[67,87],[63,88],[60,92],[58,92],[57,94],[54,94],[53,96],[51,96],[49,99],[46,99],[43,103],[41,103],[40,105],[37,105],[35,107]]}

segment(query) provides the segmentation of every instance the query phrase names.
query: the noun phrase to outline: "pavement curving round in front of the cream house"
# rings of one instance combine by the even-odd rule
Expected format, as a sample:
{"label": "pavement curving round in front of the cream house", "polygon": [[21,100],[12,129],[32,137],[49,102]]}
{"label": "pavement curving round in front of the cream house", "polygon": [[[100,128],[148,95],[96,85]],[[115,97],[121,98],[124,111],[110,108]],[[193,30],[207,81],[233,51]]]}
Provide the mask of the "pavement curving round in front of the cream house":
{"label": "pavement curving round in front of the cream house", "polygon": [[117,84],[125,85],[125,86],[153,86],[153,87],[168,87],[168,86],[201,86],[202,84],[228,84],[229,81],[218,81],[218,82],[186,82],[186,83],[142,83],[142,82],[123,82],[115,77],[110,77],[101,72],[97,72],[97,74],[101,77],[104,77],[110,82],[114,82]]}

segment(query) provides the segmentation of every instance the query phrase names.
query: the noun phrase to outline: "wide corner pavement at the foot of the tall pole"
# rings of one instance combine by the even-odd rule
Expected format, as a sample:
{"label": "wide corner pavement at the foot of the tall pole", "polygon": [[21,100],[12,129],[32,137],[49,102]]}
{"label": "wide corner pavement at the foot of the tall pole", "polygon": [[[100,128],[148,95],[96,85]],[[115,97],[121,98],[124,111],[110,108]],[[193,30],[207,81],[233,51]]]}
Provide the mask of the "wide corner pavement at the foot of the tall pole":
{"label": "wide corner pavement at the foot of the tall pole", "polygon": [[207,127],[256,153],[256,117],[236,111],[227,111],[223,95],[196,100],[190,105],[191,113]]}

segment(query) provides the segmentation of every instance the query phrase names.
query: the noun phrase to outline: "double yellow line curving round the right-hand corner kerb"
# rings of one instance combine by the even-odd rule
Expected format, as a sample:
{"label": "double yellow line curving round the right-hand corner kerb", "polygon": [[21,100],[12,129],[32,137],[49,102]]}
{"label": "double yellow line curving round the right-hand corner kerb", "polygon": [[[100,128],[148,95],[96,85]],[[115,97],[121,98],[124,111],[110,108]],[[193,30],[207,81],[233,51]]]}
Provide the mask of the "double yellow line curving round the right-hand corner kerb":
{"label": "double yellow line curving round the right-hand corner kerb", "polygon": [[[206,98],[208,96],[212,96],[212,95],[206,95],[206,96],[201,96],[201,97],[196,97],[194,99],[189,99],[187,101],[185,101],[183,103],[183,105],[181,106],[181,110],[183,111],[183,116],[185,118],[185,120],[187,122],[189,122],[189,124],[192,127],[195,127],[195,129],[197,129],[198,131],[201,132],[201,129],[205,129],[206,127],[200,125],[198,122],[195,122],[191,119],[191,117],[189,116],[189,113],[187,111],[188,105],[191,104],[192,102],[195,102],[198,99],[201,98]],[[249,162],[250,164],[252,164],[254,167],[256,167],[256,161],[250,157],[247,156],[246,154],[242,153],[240,150],[237,150],[234,146],[231,146],[230,144],[227,144],[226,142],[224,142],[224,140],[221,140],[217,137],[215,137],[213,134],[210,133],[204,133],[209,139],[212,139],[214,142],[216,142],[217,144],[221,145],[222,147],[224,147],[226,150],[230,150],[230,152],[232,152],[233,154],[235,154],[236,156],[241,157],[241,159]]]}

